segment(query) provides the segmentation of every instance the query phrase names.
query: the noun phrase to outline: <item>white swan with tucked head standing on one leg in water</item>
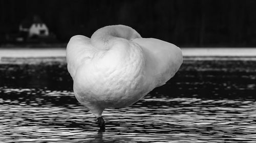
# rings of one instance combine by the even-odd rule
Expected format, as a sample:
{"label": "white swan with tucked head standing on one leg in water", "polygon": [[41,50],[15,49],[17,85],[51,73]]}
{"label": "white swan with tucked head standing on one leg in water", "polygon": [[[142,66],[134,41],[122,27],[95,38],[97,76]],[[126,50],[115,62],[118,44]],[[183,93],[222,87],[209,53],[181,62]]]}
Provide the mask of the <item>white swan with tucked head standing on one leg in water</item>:
{"label": "white swan with tucked head standing on one leg in water", "polygon": [[74,95],[105,129],[105,108],[121,108],[165,84],[182,64],[174,44],[142,38],[133,28],[110,25],[91,38],[73,36],[67,45],[67,66]]}

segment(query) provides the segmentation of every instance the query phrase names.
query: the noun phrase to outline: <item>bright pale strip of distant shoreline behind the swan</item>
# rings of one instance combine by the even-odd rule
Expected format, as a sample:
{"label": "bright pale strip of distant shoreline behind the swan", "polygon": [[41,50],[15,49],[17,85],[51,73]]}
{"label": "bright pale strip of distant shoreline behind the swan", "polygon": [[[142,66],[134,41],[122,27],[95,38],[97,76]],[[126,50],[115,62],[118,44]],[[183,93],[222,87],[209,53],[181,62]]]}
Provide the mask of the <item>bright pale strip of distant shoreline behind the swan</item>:
{"label": "bright pale strip of distant shoreline behind the swan", "polygon": [[[192,48],[181,47],[183,56],[256,56],[255,48]],[[52,45],[52,47],[1,47],[1,57],[13,57],[13,58],[37,58],[37,57],[59,57],[66,56],[66,46]]]}

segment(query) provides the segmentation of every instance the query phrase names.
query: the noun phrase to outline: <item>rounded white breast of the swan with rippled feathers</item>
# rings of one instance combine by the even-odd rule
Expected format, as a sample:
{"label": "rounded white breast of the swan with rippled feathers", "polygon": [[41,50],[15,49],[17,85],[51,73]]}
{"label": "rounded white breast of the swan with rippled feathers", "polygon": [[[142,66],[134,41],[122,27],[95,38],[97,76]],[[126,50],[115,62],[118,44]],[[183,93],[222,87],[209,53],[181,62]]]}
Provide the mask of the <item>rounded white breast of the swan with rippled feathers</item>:
{"label": "rounded white breast of the swan with rippled feathers", "polygon": [[80,102],[104,107],[131,105],[150,91],[141,47],[117,40],[77,69],[74,90]]}

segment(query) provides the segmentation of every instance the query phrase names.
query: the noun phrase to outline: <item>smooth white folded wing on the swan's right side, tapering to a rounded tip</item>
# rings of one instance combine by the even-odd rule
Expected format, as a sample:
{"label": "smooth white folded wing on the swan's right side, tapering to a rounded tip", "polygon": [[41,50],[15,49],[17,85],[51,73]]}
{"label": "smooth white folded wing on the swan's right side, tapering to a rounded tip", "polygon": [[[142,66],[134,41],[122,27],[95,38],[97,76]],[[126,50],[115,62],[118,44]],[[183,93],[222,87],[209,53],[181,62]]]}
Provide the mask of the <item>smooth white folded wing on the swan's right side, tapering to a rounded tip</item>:
{"label": "smooth white folded wing on the swan's right side, tapering to a rounded tip", "polygon": [[147,77],[153,78],[156,87],[165,84],[180,68],[182,52],[176,45],[154,38],[137,38],[133,42],[142,47]]}

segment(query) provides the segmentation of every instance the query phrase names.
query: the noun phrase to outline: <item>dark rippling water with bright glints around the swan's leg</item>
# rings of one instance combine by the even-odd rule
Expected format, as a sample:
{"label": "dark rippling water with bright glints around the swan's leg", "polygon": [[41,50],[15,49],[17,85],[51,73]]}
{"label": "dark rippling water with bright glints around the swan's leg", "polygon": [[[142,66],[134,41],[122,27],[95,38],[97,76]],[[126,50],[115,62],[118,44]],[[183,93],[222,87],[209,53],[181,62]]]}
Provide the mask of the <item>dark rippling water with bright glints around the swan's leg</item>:
{"label": "dark rippling water with bright glints around the swan's leg", "polygon": [[65,62],[0,65],[0,142],[256,142],[256,61],[191,60],[106,131],[72,93]]}

